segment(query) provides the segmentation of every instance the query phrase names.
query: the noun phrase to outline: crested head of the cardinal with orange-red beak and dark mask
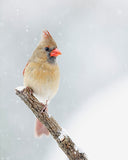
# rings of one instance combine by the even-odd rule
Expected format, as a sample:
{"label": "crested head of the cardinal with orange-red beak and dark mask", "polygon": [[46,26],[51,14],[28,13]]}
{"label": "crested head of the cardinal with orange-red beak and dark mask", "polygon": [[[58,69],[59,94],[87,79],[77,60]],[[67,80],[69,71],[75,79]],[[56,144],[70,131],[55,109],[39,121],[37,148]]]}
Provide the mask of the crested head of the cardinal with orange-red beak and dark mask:
{"label": "crested head of the cardinal with orange-red beak and dark mask", "polygon": [[38,58],[53,64],[56,62],[56,57],[61,55],[61,52],[57,49],[56,42],[47,30],[43,31],[35,54]]}

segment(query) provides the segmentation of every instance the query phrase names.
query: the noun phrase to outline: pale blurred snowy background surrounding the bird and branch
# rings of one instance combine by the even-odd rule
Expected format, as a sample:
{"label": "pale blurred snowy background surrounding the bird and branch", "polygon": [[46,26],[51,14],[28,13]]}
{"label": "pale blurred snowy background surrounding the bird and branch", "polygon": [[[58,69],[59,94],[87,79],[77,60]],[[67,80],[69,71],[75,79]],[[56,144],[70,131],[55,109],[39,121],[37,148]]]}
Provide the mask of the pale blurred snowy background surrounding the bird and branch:
{"label": "pale blurred snowy background surrounding the bird and branch", "polygon": [[50,114],[89,160],[128,160],[127,0],[0,1],[0,160],[67,160],[14,91],[45,28],[62,52]]}

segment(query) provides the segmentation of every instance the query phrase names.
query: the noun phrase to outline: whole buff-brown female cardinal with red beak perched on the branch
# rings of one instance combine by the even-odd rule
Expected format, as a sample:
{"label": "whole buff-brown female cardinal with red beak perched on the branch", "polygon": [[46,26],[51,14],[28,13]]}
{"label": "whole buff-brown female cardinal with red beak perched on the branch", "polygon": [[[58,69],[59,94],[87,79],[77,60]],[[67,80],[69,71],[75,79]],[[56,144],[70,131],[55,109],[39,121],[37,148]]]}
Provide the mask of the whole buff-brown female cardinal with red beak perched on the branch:
{"label": "whole buff-brown female cardinal with red beak perched on the branch", "polygon": [[[56,42],[45,30],[39,45],[33,52],[23,70],[24,86],[33,89],[34,94],[44,105],[55,96],[59,87],[60,72],[56,57],[61,55]],[[46,109],[47,110],[47,109]],[[37,119],[35,126],[36,136],[48,135],[46,127]]]}

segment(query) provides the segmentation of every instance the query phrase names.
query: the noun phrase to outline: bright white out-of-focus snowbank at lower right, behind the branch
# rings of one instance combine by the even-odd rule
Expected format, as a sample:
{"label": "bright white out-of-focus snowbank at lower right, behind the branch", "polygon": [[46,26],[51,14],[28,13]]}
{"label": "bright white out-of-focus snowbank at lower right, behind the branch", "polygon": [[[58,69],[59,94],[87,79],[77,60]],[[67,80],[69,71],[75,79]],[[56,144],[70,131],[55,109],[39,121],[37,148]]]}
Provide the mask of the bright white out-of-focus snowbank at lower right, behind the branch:
{"label": "bright white out-of-focus snowbank at lower right, behind the branch", "polygon": [[[128,77],[90,97],[71,117],[67,130],[89,160],[128,159]],[[67,159],[56,150],[49,159]]]}

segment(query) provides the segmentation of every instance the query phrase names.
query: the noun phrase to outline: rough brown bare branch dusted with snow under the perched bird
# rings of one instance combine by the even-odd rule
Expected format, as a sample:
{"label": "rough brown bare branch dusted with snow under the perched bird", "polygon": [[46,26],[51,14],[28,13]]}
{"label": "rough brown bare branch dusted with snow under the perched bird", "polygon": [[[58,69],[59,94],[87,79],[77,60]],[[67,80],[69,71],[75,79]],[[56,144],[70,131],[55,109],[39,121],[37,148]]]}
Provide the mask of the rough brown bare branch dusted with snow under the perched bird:
{"label": "rough brown bare branch dusted with snow under the perched bird", "polygon": [[23,90],[16,89],[16,94],[26,103],[40,122],[47,127],[59,147],[70,160],[87,160],[85,153],[79,151],[75,143],[56,120],[47,112],[41,112],[42,104],[33,96],[32,89],[28,87]]}

